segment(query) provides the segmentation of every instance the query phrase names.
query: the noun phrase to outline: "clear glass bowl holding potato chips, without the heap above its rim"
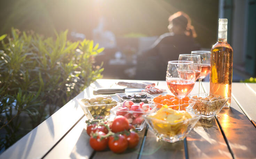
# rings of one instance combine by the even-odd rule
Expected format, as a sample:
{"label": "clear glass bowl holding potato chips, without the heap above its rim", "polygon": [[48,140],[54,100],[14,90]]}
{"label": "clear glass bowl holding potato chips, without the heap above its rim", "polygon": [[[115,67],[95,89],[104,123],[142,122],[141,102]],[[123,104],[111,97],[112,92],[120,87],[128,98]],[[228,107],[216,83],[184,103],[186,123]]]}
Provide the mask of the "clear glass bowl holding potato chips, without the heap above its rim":
{"label": "clear glass bowl holding potato chips, without the heap above its rim", "polygon": [[189,112],[192,118],[180,122],[168,122],[151,117],[154,113],[143,115],[146,123],[160,140],[171,143],[183,140],[200,119],[199,115]]}

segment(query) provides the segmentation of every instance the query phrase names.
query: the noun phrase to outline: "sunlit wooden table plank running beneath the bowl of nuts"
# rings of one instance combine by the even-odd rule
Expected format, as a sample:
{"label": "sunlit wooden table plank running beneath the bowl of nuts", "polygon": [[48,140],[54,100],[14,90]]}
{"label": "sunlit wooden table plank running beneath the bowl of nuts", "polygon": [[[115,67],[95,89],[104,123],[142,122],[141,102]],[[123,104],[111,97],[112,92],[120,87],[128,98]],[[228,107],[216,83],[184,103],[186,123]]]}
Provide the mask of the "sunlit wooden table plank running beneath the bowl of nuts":
{"label": "sunlit wooden table plank running beneath the bowl of nuts", "polygon": [[[196,82],[190,94],[198,93],[199,82]],[[189,158],[232,158],[214,117],[201,118],[196,123],[187,135],[187,146]]]}

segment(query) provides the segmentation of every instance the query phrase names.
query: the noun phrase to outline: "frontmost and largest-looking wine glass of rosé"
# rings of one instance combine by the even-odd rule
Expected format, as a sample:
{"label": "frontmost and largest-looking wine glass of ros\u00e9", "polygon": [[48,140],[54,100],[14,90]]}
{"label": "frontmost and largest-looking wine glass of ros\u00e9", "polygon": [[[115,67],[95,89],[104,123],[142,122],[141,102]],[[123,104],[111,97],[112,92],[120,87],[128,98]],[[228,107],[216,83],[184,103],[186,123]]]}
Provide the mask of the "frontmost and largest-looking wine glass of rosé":
{"label": "frontmost and largest-looking wine glass of ros\u00e9", "polygon": [[174,96],[184,98],[195,85],[195,71],[192,61],[169,61],[166,71],[166,83]]}

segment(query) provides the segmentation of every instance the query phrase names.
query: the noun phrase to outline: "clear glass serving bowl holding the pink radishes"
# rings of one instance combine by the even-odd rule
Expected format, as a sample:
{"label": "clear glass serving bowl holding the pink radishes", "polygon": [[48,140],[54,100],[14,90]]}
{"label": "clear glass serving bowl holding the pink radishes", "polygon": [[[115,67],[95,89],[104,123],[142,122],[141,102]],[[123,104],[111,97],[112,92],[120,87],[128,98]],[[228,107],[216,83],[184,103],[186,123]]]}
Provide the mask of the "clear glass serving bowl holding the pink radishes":
{"label": "clear glass serving bowl holding the pink radishes", "polygon": [[[144,127],[146,126],[146,123],[144,121],[144,118],[142,115],[154,112],[156,109],[155,104],[145,104],[150,107],[150,109],[147,109],[144,111],[143,109],[139,109],[137,111],[133,111],[131,108],[123,107],[123,103],[120,105],[115,106],[110,110],[111,115],[110,116],[118,116],[122,115],[126,117],[129,121],[130,124],[132,124],[136,130],[142,131]],[[139,104],[134,104],[134,105],[139,105]]]}

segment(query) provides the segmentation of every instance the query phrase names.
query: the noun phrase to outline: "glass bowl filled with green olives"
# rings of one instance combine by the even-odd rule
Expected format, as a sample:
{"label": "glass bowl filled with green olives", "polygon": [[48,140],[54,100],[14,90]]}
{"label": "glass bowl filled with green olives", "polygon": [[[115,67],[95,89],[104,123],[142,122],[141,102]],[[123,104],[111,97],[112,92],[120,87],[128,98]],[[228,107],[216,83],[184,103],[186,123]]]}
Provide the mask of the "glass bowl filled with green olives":
{"label": "glass bowl filled with green olives", "polygon": [[119,104],[111,96],[83,98],[78,101],[88,119],[93,119],[94,116],[107,118],[110,115],[110,109]]}

